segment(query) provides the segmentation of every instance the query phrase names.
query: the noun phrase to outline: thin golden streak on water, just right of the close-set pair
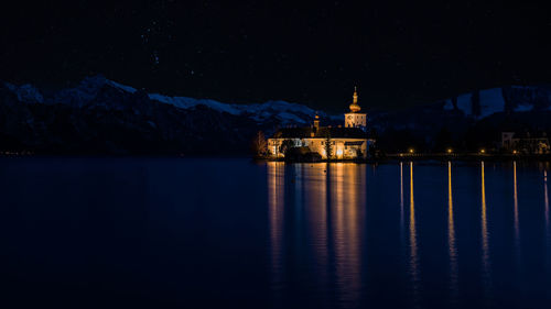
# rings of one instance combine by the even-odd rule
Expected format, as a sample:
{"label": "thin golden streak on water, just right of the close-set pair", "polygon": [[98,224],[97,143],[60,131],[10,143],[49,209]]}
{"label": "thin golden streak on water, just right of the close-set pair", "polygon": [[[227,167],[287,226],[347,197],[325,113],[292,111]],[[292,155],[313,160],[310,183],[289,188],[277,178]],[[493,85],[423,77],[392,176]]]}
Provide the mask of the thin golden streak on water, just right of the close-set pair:
{"label": "thin golden streak on water, just right of the close-set pair", "polygon": [[455,224],[453,220],[452,162],[447,162],[447,246],[450,249],[450,289],[452,300],[458,297],[457,247],[455,245]]}

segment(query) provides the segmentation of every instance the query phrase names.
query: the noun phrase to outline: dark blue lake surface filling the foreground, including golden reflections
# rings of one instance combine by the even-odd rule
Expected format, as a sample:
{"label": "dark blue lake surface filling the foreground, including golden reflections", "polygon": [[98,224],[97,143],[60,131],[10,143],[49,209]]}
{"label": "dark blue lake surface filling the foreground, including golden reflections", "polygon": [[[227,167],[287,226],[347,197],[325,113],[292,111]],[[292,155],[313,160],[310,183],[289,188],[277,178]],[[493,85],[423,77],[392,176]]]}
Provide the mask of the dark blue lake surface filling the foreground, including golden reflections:
{"label": "dark blue lake surface filling the foreground, including golden reflections", "polygon": [[0,308],[549,308],[549,170],[2,158]]}

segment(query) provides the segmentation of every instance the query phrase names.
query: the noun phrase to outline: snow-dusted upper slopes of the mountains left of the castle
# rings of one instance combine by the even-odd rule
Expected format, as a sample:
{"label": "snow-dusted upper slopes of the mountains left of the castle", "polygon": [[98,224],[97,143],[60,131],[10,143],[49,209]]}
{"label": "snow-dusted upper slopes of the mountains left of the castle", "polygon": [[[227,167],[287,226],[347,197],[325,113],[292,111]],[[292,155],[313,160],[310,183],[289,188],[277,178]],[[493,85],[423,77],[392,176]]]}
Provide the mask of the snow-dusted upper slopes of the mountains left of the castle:
{"label": "snow-dusted upper slopes of the mountains left of the castle", "polygon": [[[50,96],[43,95],[32,85],[15,86],[7,82],[6,87],[13,91],[18,99],[29,103],[64,103],[72,107],[86,107],[95,103],[102,87],[110,86],[127,93],[136,93],[138,90],[102,76],[87,77],[74,88],[62,89]],[[274,121],[279,125],[304,125],[312,121],[315,111],[306,106],[290,103],[285,101],[268,101],[253,104],[224,103],[210,99],[194,99],[187,97],[171,97],[160,93],[148,93],[152,101],[174,106],[179,109],[193,109],[197,106],[206,106],[219,112],[227,112],[234,115],[246,115],[257,122]],[[96,102],[97,103],[97,102]],[[115,104],[117,102],[114,102]],[[326,114],[321,112],[320,115]]]}

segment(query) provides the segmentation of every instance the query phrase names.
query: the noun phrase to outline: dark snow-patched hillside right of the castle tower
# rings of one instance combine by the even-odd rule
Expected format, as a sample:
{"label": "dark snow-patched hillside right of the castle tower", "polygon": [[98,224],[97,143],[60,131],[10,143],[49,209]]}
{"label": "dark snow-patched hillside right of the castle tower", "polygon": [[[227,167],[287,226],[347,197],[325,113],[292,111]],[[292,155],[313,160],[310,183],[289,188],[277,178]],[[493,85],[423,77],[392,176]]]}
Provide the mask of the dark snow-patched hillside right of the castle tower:
{"label": "dark snow-patched hillside right of the castle tower", "polygon": [[551,133],[551,88],[508,86],[464,93],[397,112],[374,112],[369,124],[389,152],[410,146],[497,147],[503,131]]}

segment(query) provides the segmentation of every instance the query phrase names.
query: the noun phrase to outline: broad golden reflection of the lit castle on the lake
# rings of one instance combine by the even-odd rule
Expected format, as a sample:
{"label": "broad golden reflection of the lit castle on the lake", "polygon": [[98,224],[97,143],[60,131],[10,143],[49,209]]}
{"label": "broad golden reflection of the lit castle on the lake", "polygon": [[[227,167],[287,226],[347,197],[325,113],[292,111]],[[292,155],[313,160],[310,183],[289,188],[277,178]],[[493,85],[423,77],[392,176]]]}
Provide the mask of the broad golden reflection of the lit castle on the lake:
{"label": "broad golden reflection of the lit castle on the lake", "polygon": [[[316,277],[316,286],[336,293],[341,305],[355,306],[361,294],[366,168],[344,163],[294,164],[288,172],[293,175],[285,178],[284,163],[268,164],[271,283],[276,285],[272,289],[278,291],[278,285],[285,279],[281,277],[287,268],[283,263],[296,263],[282,258],[285,252],[282,229],[289,228],[289,222],[283,223],[287,196],[287,202],[291,198],[294,211],[293,218],[289,212],[285,219],[298,231],[293,242],[300,246],[292,250],[304,251],[304,256],[313,253],[314,263],[307,269]],[[284,179],[290,183],[287,188],[292,191],[283,190]],[[303,224],[307,227],[307,235],[301,232]],[[299,254],[296,258],[303,257]],[[335,286],[332,287],[333,283]]]}

